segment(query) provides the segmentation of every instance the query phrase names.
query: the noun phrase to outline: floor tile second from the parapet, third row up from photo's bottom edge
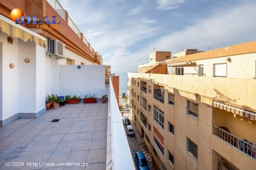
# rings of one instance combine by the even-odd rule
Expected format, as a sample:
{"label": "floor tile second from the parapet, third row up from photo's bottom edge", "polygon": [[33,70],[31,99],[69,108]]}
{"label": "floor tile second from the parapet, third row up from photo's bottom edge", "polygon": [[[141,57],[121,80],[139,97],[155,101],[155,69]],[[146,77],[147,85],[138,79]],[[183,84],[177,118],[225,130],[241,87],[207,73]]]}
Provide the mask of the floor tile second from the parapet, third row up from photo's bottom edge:
{"label": "floor tile second from the parapet, third row up from photo's bottom edge", "polygon": [[81,140],[71,142],[61,142],[55,152],[70,152],[70,151],[87,151],[90,149],[92,140]]}

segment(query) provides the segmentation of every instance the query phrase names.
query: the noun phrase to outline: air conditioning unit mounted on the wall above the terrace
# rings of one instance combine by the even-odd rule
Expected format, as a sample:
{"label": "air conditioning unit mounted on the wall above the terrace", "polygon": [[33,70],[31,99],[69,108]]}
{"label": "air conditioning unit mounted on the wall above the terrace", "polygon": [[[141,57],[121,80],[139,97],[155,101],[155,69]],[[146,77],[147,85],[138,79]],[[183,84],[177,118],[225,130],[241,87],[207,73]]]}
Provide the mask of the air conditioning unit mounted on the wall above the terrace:
{"label": "air conditioning unit mounted on the wall above the terrace", "polygon": [[65,58],[63,56],[63,48],[65,44],[57,39],[49,39],[49,56],[55,58]]}

